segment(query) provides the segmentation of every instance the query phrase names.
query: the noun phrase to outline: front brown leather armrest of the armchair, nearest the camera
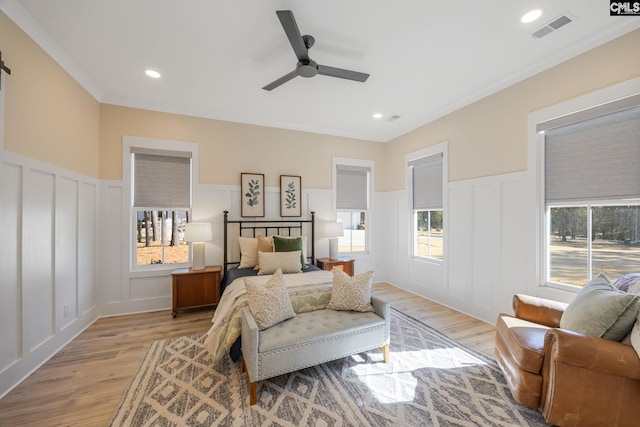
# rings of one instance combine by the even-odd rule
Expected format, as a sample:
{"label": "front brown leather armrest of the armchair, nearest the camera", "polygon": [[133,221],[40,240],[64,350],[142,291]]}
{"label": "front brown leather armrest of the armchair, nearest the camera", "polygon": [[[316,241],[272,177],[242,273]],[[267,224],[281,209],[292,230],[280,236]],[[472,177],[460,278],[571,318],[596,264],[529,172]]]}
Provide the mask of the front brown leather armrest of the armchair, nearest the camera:
{"label": "front brown leather armrest of the armchair, nearest the camera", "polygon": [[640,379],[640,359],[630,345],[566,329],[550,329],[544,341],[545,360]]}

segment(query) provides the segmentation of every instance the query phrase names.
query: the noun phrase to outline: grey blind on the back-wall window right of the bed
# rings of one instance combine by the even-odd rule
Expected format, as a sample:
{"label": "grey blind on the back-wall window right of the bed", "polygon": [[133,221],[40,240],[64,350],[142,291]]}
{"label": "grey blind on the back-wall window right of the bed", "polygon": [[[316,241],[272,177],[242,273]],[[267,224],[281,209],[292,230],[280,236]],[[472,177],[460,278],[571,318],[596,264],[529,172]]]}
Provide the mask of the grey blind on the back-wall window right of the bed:
{"label": "grey blind on the back-wall window right of the bed", "polygon": [[369,209],[369,173],[359,166],[336,166],[336,208],[364,211]]}

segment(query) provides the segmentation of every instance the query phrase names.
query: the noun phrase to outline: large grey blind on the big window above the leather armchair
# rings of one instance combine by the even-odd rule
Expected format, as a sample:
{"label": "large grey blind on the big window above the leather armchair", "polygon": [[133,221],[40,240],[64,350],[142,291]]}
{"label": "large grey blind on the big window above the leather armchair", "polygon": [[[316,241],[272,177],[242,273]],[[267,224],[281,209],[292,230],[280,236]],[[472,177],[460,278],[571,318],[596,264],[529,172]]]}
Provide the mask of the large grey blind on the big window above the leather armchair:
{"label": "large grey blind on the big window above the leather armchair", "polygon": [[640,197],[640,106],[545,132],[549,202]]}

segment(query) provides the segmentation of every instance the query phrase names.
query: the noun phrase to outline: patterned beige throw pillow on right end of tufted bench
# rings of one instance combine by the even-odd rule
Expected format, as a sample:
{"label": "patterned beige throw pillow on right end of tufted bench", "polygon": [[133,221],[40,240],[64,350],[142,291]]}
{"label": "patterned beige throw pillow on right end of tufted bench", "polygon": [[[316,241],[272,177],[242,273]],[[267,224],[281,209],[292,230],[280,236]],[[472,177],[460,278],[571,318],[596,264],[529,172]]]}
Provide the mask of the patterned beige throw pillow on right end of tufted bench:
{"label": "patterned beige throw pillow on right end of tufted bench", "polygon": [[351,277],[339,268],[334,268],[331,300],[327,308],[338,311],[373,311],[372,281],[373,271]]}

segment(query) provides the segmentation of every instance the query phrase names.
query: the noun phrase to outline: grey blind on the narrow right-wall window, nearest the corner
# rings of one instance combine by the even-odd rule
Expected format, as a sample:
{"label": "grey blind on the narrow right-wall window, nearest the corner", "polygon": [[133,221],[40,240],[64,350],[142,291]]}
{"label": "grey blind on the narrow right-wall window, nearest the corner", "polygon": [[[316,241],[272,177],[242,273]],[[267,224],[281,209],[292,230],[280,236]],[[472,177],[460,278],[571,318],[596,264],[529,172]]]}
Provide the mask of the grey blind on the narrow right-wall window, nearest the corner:
{"label": "grey blind on the narrow right-wall window, nearest the corner", "polygon": [[442,153],[409,162],[413,209],[442,209]]}

